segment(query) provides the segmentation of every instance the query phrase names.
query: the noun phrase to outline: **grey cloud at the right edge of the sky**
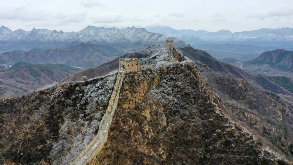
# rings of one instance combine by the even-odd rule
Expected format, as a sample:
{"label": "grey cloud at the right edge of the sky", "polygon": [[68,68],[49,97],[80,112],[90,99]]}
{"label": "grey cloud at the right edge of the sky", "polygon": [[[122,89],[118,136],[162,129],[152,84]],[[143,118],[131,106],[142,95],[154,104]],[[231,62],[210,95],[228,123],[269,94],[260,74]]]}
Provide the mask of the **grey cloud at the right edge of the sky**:
{"label": "grey cloud at the right edge of the sky", "polygon": [[261,20],[264,20],[266,18],[271,18],[271,17],[286,17],[286,16],[293,16],[293,8],[289,6],[285,6],[285,5],[279,5],[274,9],[262,11],[257,14],[247,16],[246,18],[247,19],[259,18]]}

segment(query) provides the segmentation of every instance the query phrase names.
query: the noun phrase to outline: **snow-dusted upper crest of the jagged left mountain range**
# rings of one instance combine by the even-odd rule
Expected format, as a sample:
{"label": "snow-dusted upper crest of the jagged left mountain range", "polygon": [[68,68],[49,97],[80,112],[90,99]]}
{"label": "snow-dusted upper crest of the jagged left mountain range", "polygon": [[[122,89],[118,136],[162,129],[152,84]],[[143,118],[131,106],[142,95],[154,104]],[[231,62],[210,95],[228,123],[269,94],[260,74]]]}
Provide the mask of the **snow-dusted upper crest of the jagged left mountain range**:
{"label": "snow-dusted upper crest of the jagged left mountain range", "polygon": [[[104,28],[87,26],[86,28],[77,32],[63,32],[48,29],[36,29],[31,31],[24,31],[18,29],[11,31],[5,26],[0,27],[0,41],[7,42],[70,42],[70,41],[98,41],[101,43],[125,43],[125,44],[147,44],[147,43],[162,43],[166,39],[174,39],[173,37],[166,37],[159,33],[151,33],[144,28],[135,28],[134,26],[125,29],[119,28]],[[184,42],[181,42],[184,44]]]}

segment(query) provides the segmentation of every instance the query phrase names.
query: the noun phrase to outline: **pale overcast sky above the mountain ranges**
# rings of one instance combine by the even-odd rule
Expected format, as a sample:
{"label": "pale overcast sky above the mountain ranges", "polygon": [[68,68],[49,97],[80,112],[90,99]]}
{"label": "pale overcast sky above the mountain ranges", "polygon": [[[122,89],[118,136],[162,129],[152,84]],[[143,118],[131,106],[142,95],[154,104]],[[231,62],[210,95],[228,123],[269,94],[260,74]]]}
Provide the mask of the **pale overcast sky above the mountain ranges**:
{"label": "pale overcast sky above the mountain ranges", "polygon": [[79,31],[87,25],[250,31],[293,27],[292,0],[0,0],[0,25]]}

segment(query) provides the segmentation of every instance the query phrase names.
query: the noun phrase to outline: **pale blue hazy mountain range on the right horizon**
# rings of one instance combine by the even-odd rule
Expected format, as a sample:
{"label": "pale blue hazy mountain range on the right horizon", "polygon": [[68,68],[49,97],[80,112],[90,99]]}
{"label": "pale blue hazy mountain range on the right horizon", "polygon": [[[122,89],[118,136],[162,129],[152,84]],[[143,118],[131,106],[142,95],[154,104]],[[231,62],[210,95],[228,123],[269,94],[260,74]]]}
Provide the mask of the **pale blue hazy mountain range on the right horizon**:
{"label": "pale blue hazy mountain range on the right horizon", "polygon": [[217,32],[191,29],[177,30],[169,26],[147,26],[145,29],[153,33],[176,37],[192,45],[234,43],[293,48],[293,28],[262,28],[234,33],[229,30],[219,30]]}

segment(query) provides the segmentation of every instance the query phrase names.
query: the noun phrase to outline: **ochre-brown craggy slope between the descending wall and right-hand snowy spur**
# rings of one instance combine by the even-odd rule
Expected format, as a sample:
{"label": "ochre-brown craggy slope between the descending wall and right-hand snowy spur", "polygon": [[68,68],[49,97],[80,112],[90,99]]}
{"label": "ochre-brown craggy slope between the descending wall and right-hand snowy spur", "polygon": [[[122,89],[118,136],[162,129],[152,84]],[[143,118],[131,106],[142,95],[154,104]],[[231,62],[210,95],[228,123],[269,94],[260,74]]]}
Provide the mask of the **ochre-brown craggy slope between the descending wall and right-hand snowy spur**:
{"label": "ochre-brown craggy slope between the descending wall and right-hand snowy spur", "polygon": [[131,73],[108,141],[90,164],[286,164],[222,103],[193,65]]}

